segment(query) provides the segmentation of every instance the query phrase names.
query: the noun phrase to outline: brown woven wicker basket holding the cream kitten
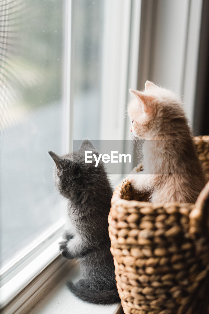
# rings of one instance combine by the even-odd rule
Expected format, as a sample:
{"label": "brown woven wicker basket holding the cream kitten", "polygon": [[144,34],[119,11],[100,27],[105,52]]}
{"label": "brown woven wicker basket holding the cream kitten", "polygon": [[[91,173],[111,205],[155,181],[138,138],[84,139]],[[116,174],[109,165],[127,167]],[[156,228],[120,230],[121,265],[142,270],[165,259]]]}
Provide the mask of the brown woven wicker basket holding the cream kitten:
{"label": "brown woven wicker basket holding the cream kitten", "polygon": [[[209,179],[209,136],[195,142]],[[195,204],[145,199],[123,180],[113,193],[108,217],[125,314],[207,313],[209,182]]]}

